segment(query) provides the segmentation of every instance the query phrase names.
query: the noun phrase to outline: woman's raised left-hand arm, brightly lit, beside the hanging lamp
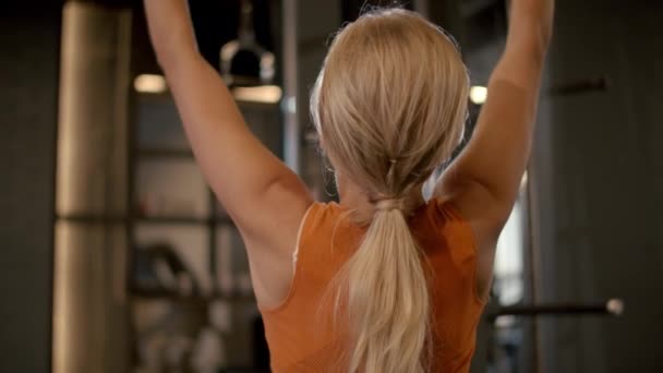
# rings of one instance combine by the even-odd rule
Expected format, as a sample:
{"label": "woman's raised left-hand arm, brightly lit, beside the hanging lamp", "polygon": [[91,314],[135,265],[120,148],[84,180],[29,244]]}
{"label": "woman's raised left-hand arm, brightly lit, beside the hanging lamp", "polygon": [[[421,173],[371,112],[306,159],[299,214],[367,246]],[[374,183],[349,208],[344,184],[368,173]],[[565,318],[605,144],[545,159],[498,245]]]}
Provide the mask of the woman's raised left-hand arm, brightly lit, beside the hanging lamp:
{"label": "woman's raised left-hand arm, brightly lit, beside the hanging lamp", "polygon": [[145,10],[195,158],[242,232],[252,270],[289,269],[312,202],[305,185],[251,133],[224,81],[198,53],[186,1],[145,0]]}

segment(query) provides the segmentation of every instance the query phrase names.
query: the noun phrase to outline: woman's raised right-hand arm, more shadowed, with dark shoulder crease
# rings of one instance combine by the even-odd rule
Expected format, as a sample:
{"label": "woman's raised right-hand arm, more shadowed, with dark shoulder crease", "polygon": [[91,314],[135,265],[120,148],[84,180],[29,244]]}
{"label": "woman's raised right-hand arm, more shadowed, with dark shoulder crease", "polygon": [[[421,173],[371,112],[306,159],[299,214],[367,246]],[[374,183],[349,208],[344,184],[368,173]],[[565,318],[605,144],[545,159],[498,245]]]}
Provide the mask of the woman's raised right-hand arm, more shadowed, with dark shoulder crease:
{"label": "woman's raised right-hand arm, more shadowed, with dark shoulder crease", "polygon": [[511,0],[506,49],[491,75],[474,133],[436,189],[438,196],[455,202],[474,229],[480,277],[486,277],[480,289],[484,294],[495,242],[530,156],[553,9],[554,0]]}

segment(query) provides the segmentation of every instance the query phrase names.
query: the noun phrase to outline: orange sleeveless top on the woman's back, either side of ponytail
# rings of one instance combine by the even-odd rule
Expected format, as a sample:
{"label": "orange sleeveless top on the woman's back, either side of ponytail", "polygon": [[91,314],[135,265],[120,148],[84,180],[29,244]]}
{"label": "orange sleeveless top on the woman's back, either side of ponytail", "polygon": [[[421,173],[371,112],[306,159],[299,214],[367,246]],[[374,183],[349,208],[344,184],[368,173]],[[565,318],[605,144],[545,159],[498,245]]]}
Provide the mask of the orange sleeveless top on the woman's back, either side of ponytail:
{"label": "orange sleeveless top on the woman's back, either side of ponytail", "polygon": [[[343,213],[335,203],[316,203],[310,208],[300,231],[290,293],[279,306],[261,310],[275,373],[341,371],[338,357],[343,339],[328,322],[333,303],[321,305],[321,299],[364,232]],[[436,200],[421,206],[409,224],[434,272],[434,371],[469,372],[483,309],[475,291],[471,228],[451,204]]]}

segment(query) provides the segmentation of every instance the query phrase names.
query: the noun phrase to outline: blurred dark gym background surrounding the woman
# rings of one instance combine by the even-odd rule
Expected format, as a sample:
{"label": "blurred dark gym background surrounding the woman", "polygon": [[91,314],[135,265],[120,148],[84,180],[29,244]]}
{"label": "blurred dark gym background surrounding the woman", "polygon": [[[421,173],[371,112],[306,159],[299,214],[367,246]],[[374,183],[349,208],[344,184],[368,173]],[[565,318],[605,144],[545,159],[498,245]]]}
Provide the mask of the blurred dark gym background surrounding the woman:
{"label": "blurred dark gym background surrounding the woman", "polygon": [[[309,89],[330,33],[393,2],[190,3],[252,131],[335,198]],[[505,1],[402,7],[462,45],[471,133]],[[0,372],[268,371],[241,239],[194,163],[141,2],[14,1],[0,16]],[[473,372],[663,372],[662,20],[658,0],[557,0]]]}

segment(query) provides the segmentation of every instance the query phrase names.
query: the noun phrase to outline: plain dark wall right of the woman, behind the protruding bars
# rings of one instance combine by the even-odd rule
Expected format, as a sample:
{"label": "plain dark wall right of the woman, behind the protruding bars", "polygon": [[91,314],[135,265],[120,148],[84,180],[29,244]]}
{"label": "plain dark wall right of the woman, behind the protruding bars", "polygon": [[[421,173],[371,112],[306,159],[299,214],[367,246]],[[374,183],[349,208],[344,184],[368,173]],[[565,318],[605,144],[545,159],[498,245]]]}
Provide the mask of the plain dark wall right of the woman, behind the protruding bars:
{"label": "plain dark wall right of the woman, behind the protruding bars", "polygon": [[543,301],[624,298],[620,318],[541,322],[543,372],[661,372],[663,3],[557,1],[534,182]]}

